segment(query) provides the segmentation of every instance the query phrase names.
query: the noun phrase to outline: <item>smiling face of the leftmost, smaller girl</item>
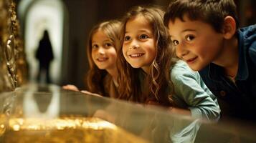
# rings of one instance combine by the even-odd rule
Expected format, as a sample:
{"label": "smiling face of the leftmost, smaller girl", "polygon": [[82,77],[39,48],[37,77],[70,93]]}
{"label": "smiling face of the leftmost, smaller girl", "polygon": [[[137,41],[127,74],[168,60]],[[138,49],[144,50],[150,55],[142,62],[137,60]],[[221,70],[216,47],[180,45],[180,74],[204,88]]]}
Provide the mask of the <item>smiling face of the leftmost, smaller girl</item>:
{"label": "smiling face of the leftmost, smaller girl", "polygon": [[115,68],[117,54],[113,42],[103,31],[97,31],[92,37],[92,57],[99,69]]}

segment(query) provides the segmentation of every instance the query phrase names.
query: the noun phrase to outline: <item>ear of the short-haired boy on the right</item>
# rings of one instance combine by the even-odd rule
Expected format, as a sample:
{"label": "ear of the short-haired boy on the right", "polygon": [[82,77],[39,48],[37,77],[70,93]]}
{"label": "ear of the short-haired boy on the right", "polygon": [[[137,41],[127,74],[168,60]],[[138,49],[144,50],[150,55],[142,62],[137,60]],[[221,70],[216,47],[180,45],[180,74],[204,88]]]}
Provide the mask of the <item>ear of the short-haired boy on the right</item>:
{"label": "ear of the short-haired boy on the right", "polygon": [[222,27],[222,34],[224,35],[224,38],[231,39],[236,31],[236,21],[232,16],[226,16]]}

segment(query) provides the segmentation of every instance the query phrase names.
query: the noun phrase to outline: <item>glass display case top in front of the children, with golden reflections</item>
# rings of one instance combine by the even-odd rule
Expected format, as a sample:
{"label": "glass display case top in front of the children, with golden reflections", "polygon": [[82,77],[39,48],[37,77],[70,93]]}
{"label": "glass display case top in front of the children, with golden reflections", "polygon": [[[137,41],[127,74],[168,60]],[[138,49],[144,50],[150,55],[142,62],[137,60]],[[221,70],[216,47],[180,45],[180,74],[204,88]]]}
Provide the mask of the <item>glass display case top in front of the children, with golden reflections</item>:
{"label": "glass display case top in front of the children, with golden reflections", "polygon": [[255,124],[29,84],[0,94],[0,142],[256,142]]}

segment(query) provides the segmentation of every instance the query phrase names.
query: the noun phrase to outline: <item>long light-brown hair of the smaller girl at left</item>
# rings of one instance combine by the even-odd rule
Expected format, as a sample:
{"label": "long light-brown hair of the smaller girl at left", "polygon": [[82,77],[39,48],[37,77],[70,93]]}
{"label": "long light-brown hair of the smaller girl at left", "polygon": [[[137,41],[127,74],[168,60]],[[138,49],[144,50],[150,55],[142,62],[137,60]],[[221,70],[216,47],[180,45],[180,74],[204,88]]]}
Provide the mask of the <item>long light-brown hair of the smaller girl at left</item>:
{"label": "long light-brown hair of the smaller girl at left", "polygon": [[110,41],[112,42],[113,46],[116,47],[119,46],[120,41],[118,39],[118,34],[120,29],[120,21],[118,20],[110,20],[110,21],[103,21],[100,24],[97,24],[96,26],[91,29],[88,41],[87,41],[87,58],[89,61],[90,69],[87,71],[86,75],[86,81],[87,89],[90,92],[101,94],[103,96],[108,97],[109,95],[106,94],[107,91],[104,90],[105,85],[103,84],[103,80],[105,76],[108,74],[108,71],[104,69],[99,69],[98,66],[93,61],[92,57],[92,39],[93,35],[97,31],[103,31],[104,34],[106,34]]}

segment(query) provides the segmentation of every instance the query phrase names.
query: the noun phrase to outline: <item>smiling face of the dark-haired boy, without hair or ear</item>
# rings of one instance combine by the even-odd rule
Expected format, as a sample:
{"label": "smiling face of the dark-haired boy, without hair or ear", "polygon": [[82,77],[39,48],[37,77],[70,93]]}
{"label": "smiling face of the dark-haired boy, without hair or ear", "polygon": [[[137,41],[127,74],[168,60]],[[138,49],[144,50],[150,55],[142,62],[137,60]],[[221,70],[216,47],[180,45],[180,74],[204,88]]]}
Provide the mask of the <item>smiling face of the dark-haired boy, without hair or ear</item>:
{"label": "smiling face of the dark-haired boy, without hair or ear", "polygon": [[169,21],[169,34],[176,48],[176,55],[186,61],[191,69],[199,71],[218,59],[222,51],[223,36],[203,21]]}

